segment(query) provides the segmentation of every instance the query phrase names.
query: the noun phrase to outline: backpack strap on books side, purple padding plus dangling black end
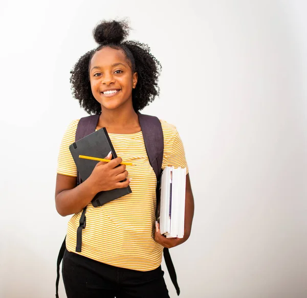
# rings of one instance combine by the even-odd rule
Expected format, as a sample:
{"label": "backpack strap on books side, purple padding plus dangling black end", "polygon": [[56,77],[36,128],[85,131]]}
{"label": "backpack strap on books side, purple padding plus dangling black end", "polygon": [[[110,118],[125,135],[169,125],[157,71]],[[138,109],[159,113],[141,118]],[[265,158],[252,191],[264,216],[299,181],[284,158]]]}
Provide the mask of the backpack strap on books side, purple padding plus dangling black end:
{"label": "backpack strap on books side, purple padding plus dangling black end", "polygon": [[[143,133],[144,144],[148,155],[149,163],[156,173],[157,177],[157,206],[160,201],[159,182],[163,161],[164,138],[161,122],[157,117],[138,113],[139,122]],[[180,288],[177,282],[176,271],[170,258],[168,248],[164,247],[163,255],[170,279],[176,288],[177,294],[180,294]]]}

